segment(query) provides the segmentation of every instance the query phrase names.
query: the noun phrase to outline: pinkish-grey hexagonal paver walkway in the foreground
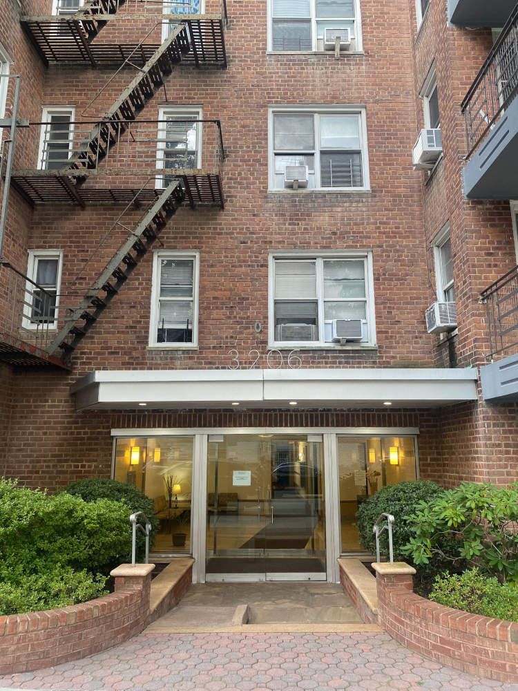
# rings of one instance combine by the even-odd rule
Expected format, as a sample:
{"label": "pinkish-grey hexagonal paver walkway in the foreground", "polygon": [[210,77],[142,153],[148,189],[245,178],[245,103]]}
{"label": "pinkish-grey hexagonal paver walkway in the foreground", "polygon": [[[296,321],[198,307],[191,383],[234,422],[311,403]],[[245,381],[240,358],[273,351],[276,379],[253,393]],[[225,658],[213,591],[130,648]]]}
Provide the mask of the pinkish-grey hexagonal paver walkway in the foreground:
{"label": "pinkish-grey hexagonal paver walkway in the foreground", "polygon": [[424,659],[385,633],[256,632],[143,633],[84,660],[0,676],[0,688],[518,691],[518,686],[479,679]]}

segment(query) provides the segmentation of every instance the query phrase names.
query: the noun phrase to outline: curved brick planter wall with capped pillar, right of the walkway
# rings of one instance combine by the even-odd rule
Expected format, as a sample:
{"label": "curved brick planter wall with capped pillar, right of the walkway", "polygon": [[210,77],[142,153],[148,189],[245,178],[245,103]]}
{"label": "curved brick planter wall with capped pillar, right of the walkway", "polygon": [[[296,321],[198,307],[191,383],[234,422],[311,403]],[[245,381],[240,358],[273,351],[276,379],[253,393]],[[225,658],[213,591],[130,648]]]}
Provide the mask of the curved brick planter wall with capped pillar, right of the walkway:
{"label": "curved brick planter wall with capped pillar, right of the walkway", "polygon": [[378,616],[387,633],[411,650],[463,672],[518,683],[518,623],[421,598],[412,591],[415,571],[406,564],[373,567]]}

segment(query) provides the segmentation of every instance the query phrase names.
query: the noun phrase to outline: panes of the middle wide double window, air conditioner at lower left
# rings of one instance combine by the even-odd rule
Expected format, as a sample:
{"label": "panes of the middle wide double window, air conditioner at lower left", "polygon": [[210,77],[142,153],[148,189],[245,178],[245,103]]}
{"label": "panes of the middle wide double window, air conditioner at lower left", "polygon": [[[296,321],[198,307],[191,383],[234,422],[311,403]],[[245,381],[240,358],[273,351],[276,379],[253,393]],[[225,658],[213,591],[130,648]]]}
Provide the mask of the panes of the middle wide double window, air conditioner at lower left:
{"label": "panes of the middle wide double window, air conditioner at lower left", "polygon": [[275,189],[287,166],[307,166],[309,189],[364,186],[359,113],[275,113],[272,140]]}

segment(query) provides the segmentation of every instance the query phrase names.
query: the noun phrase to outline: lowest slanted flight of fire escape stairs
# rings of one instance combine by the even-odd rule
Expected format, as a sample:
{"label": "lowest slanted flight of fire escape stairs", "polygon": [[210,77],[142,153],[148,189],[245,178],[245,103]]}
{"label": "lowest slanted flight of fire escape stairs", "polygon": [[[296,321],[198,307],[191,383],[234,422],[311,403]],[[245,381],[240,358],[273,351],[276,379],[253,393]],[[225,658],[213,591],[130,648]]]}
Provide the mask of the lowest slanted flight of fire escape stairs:
{"label": "lowest slanted flight of fire escape stairs", "polygon": [[173,180],[133,227],[99,278],[88,288],[81,303],[77,307],[67,308],[64,326],[46,348],[48,354],[52,355],[59,348],[62,351],[62,359],[70,359],[77,345],[146,256],[183,200],[184,191],[180,181]]}

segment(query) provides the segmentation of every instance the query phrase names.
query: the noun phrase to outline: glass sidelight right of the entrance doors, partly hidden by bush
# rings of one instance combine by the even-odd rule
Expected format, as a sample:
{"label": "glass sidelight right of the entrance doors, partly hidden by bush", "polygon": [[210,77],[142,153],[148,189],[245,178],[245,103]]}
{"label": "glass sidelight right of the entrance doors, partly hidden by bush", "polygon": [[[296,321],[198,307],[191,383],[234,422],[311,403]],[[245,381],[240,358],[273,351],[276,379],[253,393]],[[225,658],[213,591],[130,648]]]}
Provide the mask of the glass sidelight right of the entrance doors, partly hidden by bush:
{"label": "glass sidelight right of the entrance doors, partly hidden by bush", "polygon": [[416,480],[414,437],[338,437],[341,551],[363,551],[356,511],[388,484]]}

